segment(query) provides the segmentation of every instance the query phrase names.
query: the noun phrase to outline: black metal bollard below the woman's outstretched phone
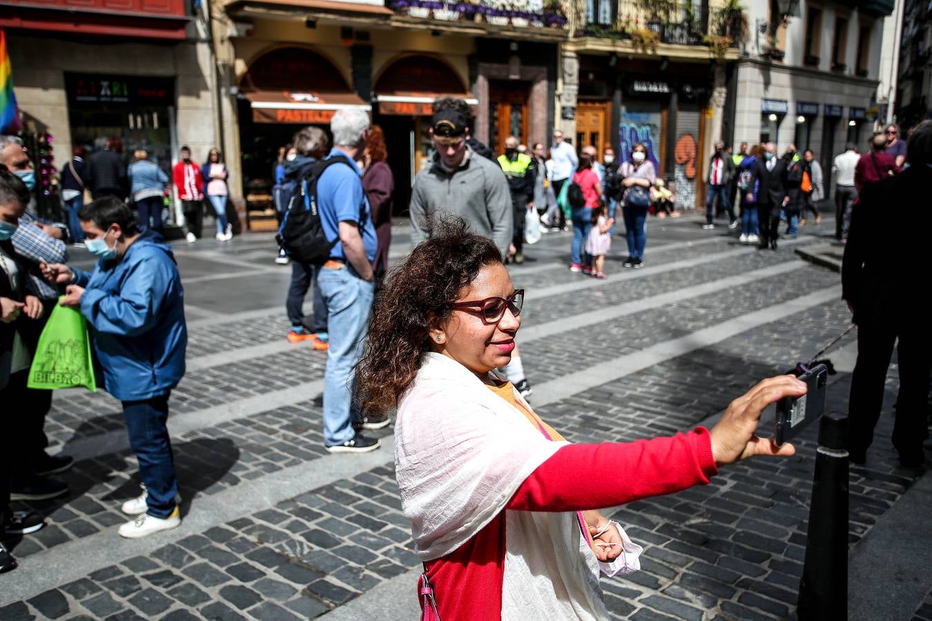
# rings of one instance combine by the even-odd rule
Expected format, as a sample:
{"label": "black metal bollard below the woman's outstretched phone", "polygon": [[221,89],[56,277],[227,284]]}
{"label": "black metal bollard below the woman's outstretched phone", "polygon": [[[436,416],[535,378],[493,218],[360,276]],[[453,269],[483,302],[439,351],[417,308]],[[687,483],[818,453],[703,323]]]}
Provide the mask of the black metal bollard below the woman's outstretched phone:
{"label": "black metal bollard below the woman's outstretched phone", "polygon": [[848,416],[818,425],[818,452],[800,580],[800,621],[848,618]]}

